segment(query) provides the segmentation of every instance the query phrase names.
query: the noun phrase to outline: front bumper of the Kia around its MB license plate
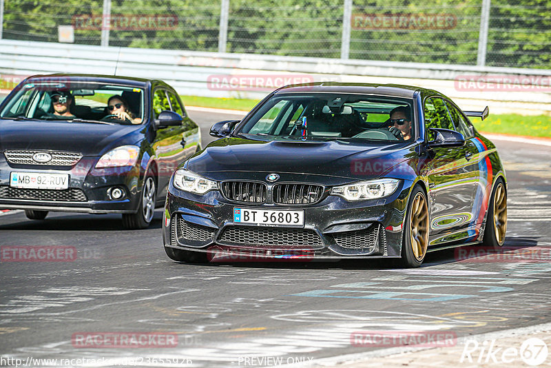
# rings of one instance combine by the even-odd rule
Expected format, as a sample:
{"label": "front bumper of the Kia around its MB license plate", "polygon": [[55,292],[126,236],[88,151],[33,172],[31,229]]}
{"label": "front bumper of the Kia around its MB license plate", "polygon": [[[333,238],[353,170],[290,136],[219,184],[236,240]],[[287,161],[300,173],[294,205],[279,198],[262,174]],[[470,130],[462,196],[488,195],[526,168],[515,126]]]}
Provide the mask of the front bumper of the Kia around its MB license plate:
{"label": "front bumper of the Kia around its MB license plate", "polygon": [[[97,158],[83,157],[73,167],[45,167],[8,164],[0,160],[0,207],[90,214],[129,214],[138,210],[141,190],[139,166],[94,169]],[[67,190],[36,190],[10,187],[11,172],[68,174]],[[119,187],[123,198],[110,198],[109,190]]]}

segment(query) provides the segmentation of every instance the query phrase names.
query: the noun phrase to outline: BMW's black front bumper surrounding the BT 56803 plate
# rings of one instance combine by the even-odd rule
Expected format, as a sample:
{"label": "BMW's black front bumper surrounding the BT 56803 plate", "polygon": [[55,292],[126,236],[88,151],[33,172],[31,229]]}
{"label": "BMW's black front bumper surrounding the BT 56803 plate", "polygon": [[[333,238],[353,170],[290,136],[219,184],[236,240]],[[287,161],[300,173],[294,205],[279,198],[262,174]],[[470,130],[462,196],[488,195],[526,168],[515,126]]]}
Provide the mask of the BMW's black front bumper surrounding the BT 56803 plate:
{"label": "BMW's black front bumper surrounding the BT 56803 plate", "polygon": [[[163,216],[165,247],[254,258],[400,257],[402,229],[411,183],[402,181],[386,198],[349,202],[326,196],[313,205],[229,201],[218,191],[203,196],[169,185]],[[233,207],[303,209],[304,227],[233,223]],[[229,258],[231,259],[231,258]]]}

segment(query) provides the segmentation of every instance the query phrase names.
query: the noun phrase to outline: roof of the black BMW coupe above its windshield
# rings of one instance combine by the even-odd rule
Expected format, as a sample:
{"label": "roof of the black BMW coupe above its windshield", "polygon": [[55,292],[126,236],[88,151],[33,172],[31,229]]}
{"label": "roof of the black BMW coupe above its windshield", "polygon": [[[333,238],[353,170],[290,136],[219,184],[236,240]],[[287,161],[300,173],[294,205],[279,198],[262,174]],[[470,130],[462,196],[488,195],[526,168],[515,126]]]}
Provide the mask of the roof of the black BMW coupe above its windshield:
{"label": "roof of the black BMW coupe above its windshield", "polygon": [[278,89],[276,94],[298,92],[327,92],[327,93],[354,93],[354,94],[378,94],[383,96],[396,96],[413,98],[415,92],[424,88],[401,84],[375,84],[375,83],[337,83],[318,82],[286,85]]}

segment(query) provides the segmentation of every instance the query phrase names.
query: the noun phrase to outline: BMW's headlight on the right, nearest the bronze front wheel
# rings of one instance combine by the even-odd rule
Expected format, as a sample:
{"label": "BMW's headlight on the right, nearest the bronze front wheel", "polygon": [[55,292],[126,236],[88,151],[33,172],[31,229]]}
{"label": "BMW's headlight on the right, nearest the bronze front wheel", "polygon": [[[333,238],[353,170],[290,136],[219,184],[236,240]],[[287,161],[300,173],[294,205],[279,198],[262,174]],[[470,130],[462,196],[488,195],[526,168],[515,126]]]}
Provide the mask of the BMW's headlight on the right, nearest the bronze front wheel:
{"label": "BMW's headlight on the right, nearest the bronze front wheel", "polygon": [[331,194],[342,196],[346,201],[383,198],[393,194],[400,181],[397,179],[377,179],[333,187]]}

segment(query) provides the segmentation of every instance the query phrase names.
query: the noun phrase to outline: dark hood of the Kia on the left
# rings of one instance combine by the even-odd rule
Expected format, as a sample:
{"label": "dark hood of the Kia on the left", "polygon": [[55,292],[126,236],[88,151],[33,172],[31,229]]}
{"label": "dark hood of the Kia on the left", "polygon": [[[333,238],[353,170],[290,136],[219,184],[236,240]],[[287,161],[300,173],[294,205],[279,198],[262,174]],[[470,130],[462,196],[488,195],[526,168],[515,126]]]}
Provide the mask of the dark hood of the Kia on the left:
{"label": "dark hood of the Kia on the left", "polygon": [[60,150],[96,156],[118,145],[135,144],[143,125],[65,121],[0,120],[0,152]]}

